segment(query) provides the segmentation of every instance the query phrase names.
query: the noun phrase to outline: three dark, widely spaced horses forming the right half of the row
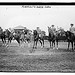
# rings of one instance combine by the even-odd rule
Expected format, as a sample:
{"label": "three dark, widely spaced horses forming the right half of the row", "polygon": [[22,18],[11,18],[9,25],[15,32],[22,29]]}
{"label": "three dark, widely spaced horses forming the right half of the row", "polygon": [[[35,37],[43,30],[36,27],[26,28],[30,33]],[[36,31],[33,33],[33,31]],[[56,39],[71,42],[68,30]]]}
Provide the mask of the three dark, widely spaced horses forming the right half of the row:
{"label": "three dark, widely spaced horses forming the right half of the row", "polygon": [[[50,28],[48,28],[49,30]],[[60,41],[63,41],[63,42],[67,42],[68,43],[68,50],[70,48],[70,44],[71,44],[71,47],[72,47],[72,51],[74,51],[75,49],[75,34],[74,33],[71,33],[70,31],[63,31],[63,34],[64,35],[61,35],[62,32],[58,32],[56,31],[55,34],[52,32],[52,30],[50,29],[48,31],[48,36],[47,36],[47,39],[48,42],[50,43],[50,48],[56,48],[58,49],[58,43]],[[36,30],[34,30],[33,32],[33,36],[34,36],[34,45],[36,45],[34,48],[37,47],[37,42],[39,41],[41,43],[41,46],[44,47],[44,37],[45,36],[39,36],[39,34],[37,33]],[[56,45],[55,45],[56,44]]]}

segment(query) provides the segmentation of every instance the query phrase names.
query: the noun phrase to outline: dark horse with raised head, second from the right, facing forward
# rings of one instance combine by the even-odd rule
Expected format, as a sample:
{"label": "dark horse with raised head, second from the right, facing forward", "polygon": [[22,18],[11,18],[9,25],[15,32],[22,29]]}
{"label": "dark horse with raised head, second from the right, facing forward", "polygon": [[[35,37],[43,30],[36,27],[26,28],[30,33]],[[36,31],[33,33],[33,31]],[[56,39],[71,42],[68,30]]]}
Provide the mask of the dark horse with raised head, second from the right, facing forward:
{"label": "dark horse with raised head, second from the right, facing forward", "polygon": [[50,43],[50,48],[51,47],[55,47],[55,40],[56,40],[56,36],[55,34],[52,32],[51,28],[48,27],[48,41]]}

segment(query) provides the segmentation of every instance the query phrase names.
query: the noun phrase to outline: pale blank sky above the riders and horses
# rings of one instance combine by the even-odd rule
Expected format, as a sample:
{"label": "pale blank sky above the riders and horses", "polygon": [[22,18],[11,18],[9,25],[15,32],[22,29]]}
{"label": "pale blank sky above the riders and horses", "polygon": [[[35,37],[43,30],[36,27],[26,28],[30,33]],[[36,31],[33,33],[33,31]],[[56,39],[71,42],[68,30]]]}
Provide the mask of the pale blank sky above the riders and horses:
{"label": "pale blank sky above the riders and horses", "polygon": [[75,6],[51,6],[51,8],[23,8],[22,6],[0,6],[0,26],[3,29],[22,25],[34,30],[40,27],[48,34],[48,26],[69,30],[75,24]]}

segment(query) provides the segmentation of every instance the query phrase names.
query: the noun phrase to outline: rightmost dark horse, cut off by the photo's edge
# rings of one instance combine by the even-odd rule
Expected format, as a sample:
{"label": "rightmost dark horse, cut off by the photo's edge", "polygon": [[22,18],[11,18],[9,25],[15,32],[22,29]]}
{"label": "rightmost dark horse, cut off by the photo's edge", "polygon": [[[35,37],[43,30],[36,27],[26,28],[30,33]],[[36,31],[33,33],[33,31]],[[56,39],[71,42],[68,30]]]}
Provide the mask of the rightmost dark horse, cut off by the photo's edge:
{"label": "rightmost dark horse, cut off by the photo's edge", "polygon": [[75,49],[75,35],[74,35],[74,33],[71,33],[70,31],[67,31],[66,36],[67,36],[67,41],[68,41],[68,50],[69,50],[69,46],[70,46],[70,43],[71,43],[72,50],[74,51],[74,49]]}

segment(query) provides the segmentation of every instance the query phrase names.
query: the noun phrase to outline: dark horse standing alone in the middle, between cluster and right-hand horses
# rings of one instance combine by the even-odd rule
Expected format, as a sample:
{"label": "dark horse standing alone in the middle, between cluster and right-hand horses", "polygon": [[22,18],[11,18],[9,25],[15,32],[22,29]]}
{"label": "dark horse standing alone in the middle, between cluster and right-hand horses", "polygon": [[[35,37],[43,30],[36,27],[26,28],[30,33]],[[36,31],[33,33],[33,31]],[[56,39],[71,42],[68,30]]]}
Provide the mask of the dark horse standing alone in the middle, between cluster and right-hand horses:
{"label": "dark horse standing alone in the middle, between cluster and right-hand horses", "polygon": [[33,31],[33,39],[34,39],[33,48],[37,48],[38,41],[41,43],[41,47],[42,47],[42,43],[43,43],[43,47],[44,47],[44,38],[43,38],[42,34],[40,34],[40,35],[37,33],[37,30]]}

